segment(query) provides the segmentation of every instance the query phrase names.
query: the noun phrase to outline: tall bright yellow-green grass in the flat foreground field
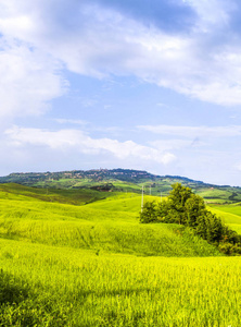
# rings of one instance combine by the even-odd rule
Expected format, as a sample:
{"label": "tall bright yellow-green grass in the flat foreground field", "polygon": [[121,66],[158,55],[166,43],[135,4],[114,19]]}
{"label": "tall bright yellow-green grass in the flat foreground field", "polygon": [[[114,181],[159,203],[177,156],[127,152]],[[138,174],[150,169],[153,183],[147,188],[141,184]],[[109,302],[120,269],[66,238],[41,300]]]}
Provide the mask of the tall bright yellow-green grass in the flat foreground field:
{"label": "tall bright yellow-green grass in the flat foreground field", "polygon": [[[15,326],[241,324],[238,257],[97,255],[7,240],[0,249],[1,267],[20,298],[14,305],[3,296],[2,326],[10,319]],[[31,312],[34,322],[22,324]]]}

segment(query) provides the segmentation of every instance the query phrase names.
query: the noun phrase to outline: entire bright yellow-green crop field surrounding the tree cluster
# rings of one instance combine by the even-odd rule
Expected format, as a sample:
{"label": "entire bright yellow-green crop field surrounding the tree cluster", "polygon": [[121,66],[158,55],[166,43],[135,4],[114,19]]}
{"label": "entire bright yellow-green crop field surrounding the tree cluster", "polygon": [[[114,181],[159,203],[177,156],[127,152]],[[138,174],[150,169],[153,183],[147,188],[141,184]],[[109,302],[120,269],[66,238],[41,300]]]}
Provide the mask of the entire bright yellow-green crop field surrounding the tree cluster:
{"label": "entire bright yellow-green crop field surrounding the tree cluster", "polygon": [[[58,203],[8,187],[0,326],[241,326],[241,258],[182,226],[140,225],[140,195],[74,205],[71,193]],[[212,210],[241,231],[238,206],[220,207]]]}

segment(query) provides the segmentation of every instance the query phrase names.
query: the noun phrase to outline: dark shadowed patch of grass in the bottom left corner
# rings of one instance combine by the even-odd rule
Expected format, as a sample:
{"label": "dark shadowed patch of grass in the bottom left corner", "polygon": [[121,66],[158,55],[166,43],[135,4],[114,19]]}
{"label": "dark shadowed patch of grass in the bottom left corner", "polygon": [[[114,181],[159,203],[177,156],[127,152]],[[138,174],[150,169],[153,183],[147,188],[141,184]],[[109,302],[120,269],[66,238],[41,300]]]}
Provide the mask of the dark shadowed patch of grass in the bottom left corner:
{"label": "dark shadowed patch of grass in the bottom left corner", "polygon": [[48,293],[34,293],[24,280],[0,270],[0,327],[60,327],[66,317]]}

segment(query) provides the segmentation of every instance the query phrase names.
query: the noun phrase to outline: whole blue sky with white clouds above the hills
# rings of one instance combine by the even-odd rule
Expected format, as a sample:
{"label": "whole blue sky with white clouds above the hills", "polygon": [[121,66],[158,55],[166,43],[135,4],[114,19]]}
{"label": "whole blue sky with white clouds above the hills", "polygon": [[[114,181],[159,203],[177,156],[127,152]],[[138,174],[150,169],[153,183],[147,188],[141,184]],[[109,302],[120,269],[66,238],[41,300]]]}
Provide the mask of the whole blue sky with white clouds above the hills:
{"label": "whole blue sky with white clouds above the hills", "polygon": [[0,0],[0,175],[241,186],[241,2]]}

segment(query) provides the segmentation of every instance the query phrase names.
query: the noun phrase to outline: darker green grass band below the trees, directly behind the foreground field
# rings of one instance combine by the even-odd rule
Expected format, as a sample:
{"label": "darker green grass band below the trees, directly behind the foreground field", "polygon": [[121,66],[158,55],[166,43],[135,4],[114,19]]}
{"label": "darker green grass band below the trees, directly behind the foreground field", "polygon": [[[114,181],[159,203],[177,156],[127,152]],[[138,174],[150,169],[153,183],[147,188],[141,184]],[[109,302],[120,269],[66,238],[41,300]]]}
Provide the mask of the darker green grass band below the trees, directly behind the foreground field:
{"label": "darker green grass band below the trees, directly behind the foreground field", "polygon": [[78,221],[0,221],[0,235],[34,243],[138,256],[211,256],[219,252],[179,226]]}

